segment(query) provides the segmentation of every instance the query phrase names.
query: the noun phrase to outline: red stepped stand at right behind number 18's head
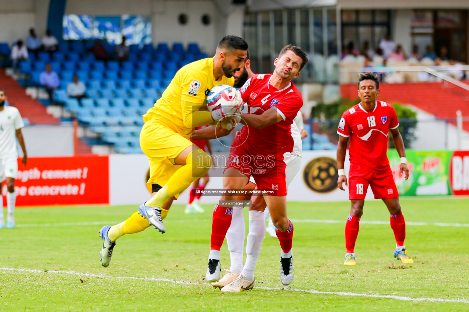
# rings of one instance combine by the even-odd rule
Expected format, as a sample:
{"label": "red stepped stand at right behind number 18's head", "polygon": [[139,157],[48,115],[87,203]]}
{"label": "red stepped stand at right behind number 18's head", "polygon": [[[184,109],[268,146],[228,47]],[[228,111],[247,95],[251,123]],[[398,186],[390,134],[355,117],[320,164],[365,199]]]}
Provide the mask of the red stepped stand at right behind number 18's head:
{"label": "red stepped stand at right behind number 18's head", "polygon": [[[467,83],[466,81],[463,81]],[[456,111],[469,117],[469,91],[445,82],[380,84],[379,100],[392,103],[411,104],[439,119],[454,122]],[[356,99],[357,85],[340,86],[343,98]],[[463,129],[469,131],[469,122],[463,122]]]}

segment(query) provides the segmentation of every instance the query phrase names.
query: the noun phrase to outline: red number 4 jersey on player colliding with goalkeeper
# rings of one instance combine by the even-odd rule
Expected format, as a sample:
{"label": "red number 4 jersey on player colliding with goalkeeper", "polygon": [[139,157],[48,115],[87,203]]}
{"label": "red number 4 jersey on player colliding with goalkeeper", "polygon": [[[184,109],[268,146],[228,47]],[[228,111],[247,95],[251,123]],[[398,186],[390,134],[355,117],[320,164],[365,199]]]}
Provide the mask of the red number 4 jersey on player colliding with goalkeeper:
{"label": "red number 4 jersey on player colliding with goalkeeper", "polygon": [[232,146],[249,144],[259,155],[283,155],[293,150],[291,124],[303,106],[303,97],[295,85],[290,82],[282,90],[269,85],[272,74],[257,74],[246,81],[240,89],[242,100],[248,103],[249,111],[257,108],[252,114],[261,115],[274,108],[283,120],[264,129],[243,126]]}

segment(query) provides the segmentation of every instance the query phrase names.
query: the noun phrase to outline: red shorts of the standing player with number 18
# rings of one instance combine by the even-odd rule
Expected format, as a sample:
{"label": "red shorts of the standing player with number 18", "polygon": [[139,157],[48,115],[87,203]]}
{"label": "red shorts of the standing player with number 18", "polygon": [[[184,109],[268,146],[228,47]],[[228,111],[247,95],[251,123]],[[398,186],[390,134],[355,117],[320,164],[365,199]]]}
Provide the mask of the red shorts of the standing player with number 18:
{"label": "red shorts of the standing player with number 18", "polygon": [[351,163],[348,172],[348,199],[363,199],[368,185],[376,199],[399,197],[391,168],[386,172],[368,171],[358,163]]}

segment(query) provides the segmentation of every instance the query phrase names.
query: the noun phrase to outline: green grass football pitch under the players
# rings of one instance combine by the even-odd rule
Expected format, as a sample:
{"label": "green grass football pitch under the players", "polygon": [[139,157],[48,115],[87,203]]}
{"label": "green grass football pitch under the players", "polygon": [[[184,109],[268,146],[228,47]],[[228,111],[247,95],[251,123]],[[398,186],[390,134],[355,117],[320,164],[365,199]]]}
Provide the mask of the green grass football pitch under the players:
{"label": "green grass football pitch under the players", "polygon": [[[108,268],[99,262],[98,231],[107,222],[125,220],[137,206],[19,208],[18,227],[0,230],[0,311],[469,311],[469,229],[433,225],[469,224],[469,199],[401,199],[401,205],[407,222],[426,223],[407,226],[406,247],[415,263],[393,259],[389,224],[363,222],[357,265],[346,267],[349,203],[288,203],[291,219],[344,221],[294,222],[296,274],[290,287],[349,292],[341,294],[280,289],[280,246],[270,237],[264,239],[253,290],[222,294],[204,283],[213,205],[197,215],[185,215],[183,205],[174,205],[165,234],[148,228],[123,236]],[[368,201],[362,221],[389,221],[389,213],[382,202]],[[38,226],[45,224],[51,226]],[[229,268],[226,242],[221,254],[222,268]]]}

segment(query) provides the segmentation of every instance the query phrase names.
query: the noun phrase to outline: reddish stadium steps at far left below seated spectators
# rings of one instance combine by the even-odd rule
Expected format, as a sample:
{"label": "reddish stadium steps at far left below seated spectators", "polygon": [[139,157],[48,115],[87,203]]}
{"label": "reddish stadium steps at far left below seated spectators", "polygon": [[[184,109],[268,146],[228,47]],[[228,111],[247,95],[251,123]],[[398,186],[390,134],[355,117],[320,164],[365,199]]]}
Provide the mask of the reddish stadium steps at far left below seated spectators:
{"label": "reddish stadium steps at far left below seated spectators", "polygon": [[59,119],[47,114],[45,107],[26,95],[24,88],[0,69],[0,88],[5,90],[8,103],[20,110],[21,116],[28,118],[30,124],[59,124]]}

